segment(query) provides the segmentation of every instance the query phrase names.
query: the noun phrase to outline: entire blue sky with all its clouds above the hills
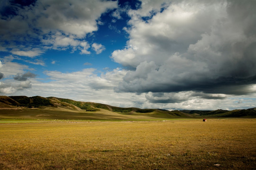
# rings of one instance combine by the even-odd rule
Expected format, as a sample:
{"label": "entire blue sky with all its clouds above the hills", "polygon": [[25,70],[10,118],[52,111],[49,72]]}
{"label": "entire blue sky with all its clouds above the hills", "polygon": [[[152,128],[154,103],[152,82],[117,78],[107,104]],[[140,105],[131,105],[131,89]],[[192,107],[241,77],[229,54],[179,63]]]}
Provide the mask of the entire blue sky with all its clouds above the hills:
{"label": "entire blue sky with all its clouds above the hills", "polygon": [[256,107],[256,0],[1,0],[0,95]]}

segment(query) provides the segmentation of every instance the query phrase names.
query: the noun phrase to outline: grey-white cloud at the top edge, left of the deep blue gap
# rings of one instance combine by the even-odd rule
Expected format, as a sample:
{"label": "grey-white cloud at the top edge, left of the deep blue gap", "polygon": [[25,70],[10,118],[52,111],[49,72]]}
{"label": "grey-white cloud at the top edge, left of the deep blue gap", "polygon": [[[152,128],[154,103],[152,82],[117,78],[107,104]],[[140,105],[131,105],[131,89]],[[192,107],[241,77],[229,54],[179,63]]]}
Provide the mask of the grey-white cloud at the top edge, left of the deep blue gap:
{"label": "grey-white cloud at the top edge, left of the deep blue gap", "polygon": [[35,13],[43,13],[37,24],[44,31],[60,30],[79,38],[98,29],[96,20],[102,13],[117,8],[117,2],[101,0],[42,0],[37,5]]}

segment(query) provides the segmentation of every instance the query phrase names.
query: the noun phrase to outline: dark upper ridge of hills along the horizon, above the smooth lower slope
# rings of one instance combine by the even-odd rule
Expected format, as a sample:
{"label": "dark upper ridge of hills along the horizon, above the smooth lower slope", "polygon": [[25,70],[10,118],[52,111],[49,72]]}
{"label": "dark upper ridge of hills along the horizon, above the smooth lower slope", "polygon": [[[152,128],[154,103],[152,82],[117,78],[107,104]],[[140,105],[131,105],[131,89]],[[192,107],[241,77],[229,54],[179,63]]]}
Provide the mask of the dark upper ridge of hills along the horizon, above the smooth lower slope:
{"label": "dark upper ridge of hills along the horizon, above the smooth lower slope", "polygon": [[[135,107],[121,108],[107,104],[95,102],[79,102],[71,99],[58,97],[41,97],[41,96],[0,96],[0,111],[14,109],[37,109],[38,112],[46,110],[67,111],[77,113],[108,113],[117,114],[120,117],[139,117],[146,116],[156,119],[166,118],[255,118],[256,108],[242,110],[161,110],[161,109],[140,109]],[[1,111],[3,112],[3,111]],[[102,119],[104,114],[101,115]]]}

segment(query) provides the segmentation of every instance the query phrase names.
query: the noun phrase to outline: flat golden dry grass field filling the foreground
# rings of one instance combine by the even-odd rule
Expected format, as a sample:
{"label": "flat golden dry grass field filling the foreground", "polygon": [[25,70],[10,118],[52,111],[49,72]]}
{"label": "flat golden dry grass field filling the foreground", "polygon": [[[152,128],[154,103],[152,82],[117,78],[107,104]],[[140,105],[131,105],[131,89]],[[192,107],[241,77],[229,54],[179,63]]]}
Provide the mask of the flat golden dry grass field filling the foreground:
{"label": "flat golden dry grass field filling the foreground", "polygon": [[256,119],[0,121],[0,170],[192,169],[256,169]]}

